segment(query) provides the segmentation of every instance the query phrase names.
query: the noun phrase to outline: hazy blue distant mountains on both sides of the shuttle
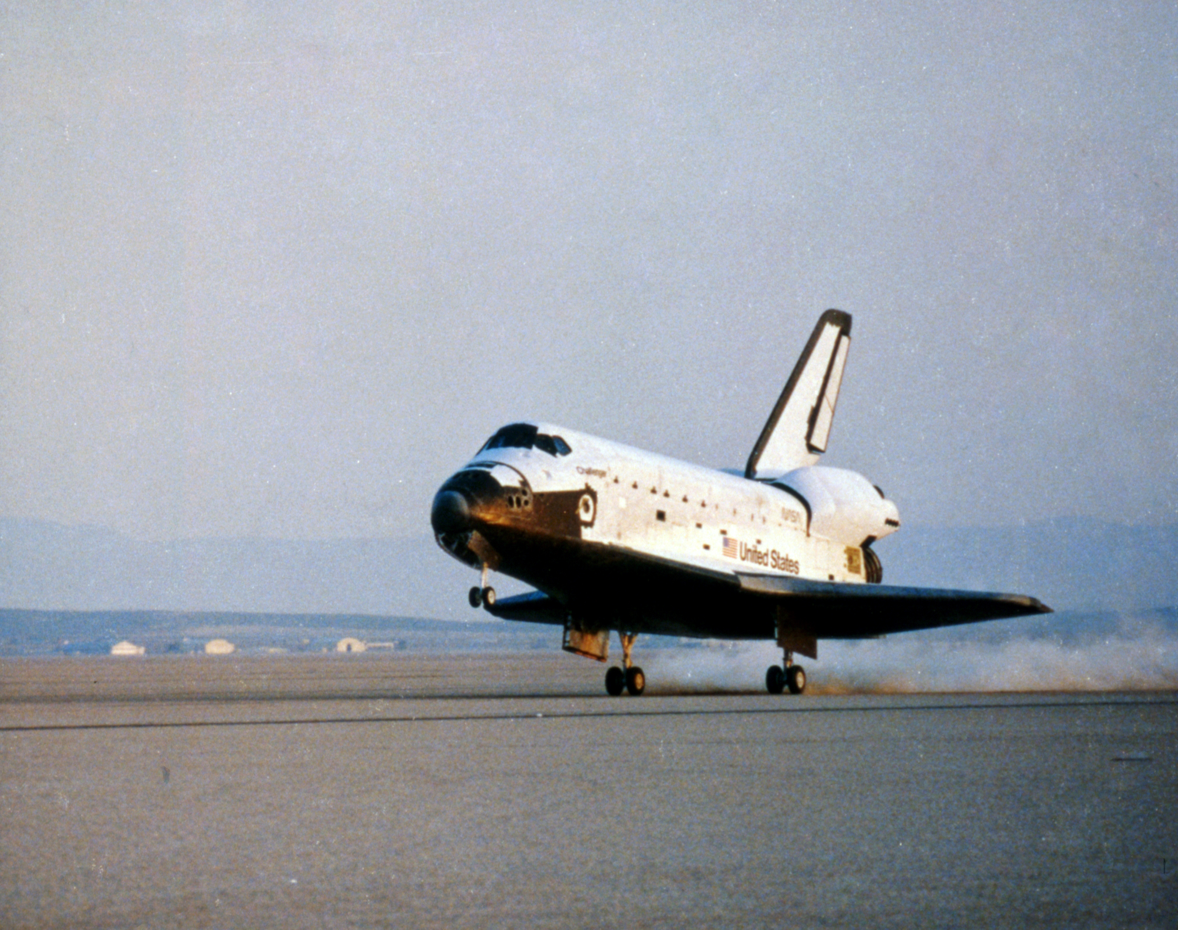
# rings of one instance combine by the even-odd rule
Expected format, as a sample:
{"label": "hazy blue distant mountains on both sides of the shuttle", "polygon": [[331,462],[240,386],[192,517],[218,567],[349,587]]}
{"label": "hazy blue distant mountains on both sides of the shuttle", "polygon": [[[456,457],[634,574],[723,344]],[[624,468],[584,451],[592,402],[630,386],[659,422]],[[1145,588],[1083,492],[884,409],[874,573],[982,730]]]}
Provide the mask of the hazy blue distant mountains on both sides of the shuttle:
{"label": "hazy blue distant mountains on both sides of the shuttle", "polygon": [[[1178,525],[905,526],[876,552],[886,584],[1015,591],[1072,611],[1178,605]],[[99,527],[0,519],[0,607],[472,619],[465,590],[475,579],[424,533],[144,543]],[[522,589],[501,585],[514,590]]]}

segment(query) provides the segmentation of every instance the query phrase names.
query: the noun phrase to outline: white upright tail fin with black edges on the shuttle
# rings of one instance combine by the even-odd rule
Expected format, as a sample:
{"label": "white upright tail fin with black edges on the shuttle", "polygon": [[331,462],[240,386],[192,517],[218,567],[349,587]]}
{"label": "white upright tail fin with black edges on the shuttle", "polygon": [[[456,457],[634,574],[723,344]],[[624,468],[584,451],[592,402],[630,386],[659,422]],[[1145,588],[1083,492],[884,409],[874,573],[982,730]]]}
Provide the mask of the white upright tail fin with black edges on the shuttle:
{"label": "white upright tail fin with black edges on the shuttle", "polygon": [[746,478],[785,474],[826,452],[849,348],[851,314],[826,311],[753,446]]}

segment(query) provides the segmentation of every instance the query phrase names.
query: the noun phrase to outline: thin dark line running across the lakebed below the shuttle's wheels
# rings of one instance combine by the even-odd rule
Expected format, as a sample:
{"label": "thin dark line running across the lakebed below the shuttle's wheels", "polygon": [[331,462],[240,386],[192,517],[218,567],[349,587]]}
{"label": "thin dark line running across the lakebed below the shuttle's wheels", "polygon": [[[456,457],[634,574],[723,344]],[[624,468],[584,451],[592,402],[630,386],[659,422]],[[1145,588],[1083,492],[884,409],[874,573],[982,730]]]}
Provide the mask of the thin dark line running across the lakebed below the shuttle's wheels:
{"label": "thin dark line running across the lakebed below the shuttle's wheels", "polygon": [[[430,698],[448,700],[449,698]],[[494,700],[495,698],[488,698]],[[499,698],[502,699],[502,698]],[[305,717],[271,720],[143,720],[130,723],[51,723],[0,725],[0,733],[44,732],[53,730],[150,730],[163,728],[198,726],[291,726],[297,724],[323,726],[343,723],[455,723],[459,720],[556,720],[591,717],[722,717],[734,715],[769,713],[854,713],[946,710],[1028,710],[1033,708],[1143,708],[1176,706],[1178,700],[1035,700],[1013,704],[925,704],[907,706],[888,704],[880,708],[716,708],[693,710],[590,710],[590,711],[509,711],[503,713],[438,713],[397,715],[380,717]]]}

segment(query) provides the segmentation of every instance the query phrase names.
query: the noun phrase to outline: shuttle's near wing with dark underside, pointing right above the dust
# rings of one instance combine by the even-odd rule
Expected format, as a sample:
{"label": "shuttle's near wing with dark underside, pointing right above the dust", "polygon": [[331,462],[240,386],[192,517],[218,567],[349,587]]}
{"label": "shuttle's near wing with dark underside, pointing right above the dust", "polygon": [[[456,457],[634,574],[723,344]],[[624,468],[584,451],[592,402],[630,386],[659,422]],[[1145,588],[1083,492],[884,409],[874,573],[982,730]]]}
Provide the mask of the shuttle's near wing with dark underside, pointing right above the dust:
{"label": "shuttle's near wing with dark underside, pointing right above the dust", "polygon": [[737,578],[742,591],[775,598],[783,619],[820,639],[859,639],[1052,612],[1026,594],[838,584],[775,574],[737,573]]}

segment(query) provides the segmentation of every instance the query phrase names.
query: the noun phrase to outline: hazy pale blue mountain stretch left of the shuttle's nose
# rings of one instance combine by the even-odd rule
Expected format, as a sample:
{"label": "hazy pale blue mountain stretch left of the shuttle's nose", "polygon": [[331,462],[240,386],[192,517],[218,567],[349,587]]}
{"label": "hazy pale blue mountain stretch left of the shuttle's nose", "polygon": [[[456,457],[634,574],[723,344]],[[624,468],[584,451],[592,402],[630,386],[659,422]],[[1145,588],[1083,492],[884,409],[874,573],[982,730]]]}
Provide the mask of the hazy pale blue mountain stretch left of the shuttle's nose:
{"label": "hazy pale blue mountain stretch left of the shuttle's nose", "polygon": [[0,606],[370,613],[466,619],[477,576],[432,536],[145,543],[92,526],[0,519]]}

